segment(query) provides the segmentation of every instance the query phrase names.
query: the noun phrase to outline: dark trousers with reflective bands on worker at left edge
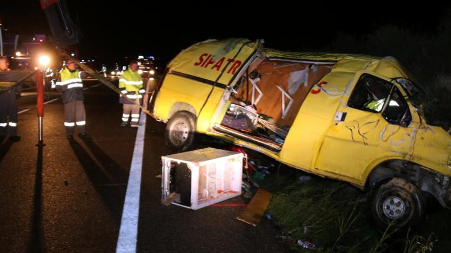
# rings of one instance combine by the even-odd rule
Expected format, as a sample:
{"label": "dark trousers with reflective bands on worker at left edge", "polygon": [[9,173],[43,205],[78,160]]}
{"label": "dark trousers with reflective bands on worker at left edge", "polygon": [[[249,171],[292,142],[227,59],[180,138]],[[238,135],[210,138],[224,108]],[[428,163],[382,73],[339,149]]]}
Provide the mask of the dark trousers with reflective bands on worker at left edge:
{"label": "dark trousers with reflective bands on worker at left edge", "polygon": [[0,93],[0,135],[17,135],[17,104],[15,89]]}

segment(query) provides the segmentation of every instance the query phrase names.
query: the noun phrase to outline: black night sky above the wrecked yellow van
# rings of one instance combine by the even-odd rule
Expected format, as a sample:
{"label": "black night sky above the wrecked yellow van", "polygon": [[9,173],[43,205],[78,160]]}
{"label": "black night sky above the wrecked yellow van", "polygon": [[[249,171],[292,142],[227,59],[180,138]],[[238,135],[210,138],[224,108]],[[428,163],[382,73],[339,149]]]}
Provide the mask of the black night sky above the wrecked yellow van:
{"label": "black night sky above the wrecked yellow van", "polygon": [[[38,0],[2,2],[0,18],[10,33],[50,34]],[[322,1],[317,5],[303,1],[167,2],[68,0],[72,18],[83,33],[77,45],[80,57],[97,56],[110,62],[154,55],[166,63],[192,43],[228,37],[263,38],[265,47],[280,50],[316,51],[337,33],[358,36],[386,24],[435,36],[449,13],[448,6],[405,7],[389,2],[374,2],[377,6],[372,7],[361,2],[331,5]]]}

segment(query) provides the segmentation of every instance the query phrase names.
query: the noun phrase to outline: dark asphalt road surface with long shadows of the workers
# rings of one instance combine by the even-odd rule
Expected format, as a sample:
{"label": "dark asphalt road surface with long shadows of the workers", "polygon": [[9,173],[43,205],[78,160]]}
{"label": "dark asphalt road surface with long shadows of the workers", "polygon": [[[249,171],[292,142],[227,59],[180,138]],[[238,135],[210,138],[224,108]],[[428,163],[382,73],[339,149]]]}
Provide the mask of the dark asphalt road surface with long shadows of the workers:
{"label": "dark asphalt road surface with long shadows of the workers", "polygon": [[[120,127],[118,95],[86,82],[87,130],[92,141],[66,139],[63,103],[45,105],[44,143],[36,147],[36,97],[17,100],[22,140],[0,146],[2,252],[115,252],[136,128]],[[95,87],[92,87],[95,86]],[[50,99],[59,98],[52,93]],[[165,124],[147,119],[138,223],[138,252],[285,252],[276,228],[237,221],[244,206],[193,211],[160,202]],[[243,197],[226,203],[247,203]]]}

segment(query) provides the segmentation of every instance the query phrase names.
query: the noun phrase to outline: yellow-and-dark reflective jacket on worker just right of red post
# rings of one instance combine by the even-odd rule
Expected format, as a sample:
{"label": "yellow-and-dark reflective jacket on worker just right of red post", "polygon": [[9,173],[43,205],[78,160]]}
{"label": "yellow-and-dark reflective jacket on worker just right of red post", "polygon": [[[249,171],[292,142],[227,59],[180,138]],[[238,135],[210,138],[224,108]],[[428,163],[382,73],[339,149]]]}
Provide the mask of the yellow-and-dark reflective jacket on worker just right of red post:
{"label": "yellow-and-dark reflective jacket on worker just right of red post", "polygon": [[67,104],[76,100],[84,100],[83,82],[79,70],[70,71],[65,68],[59,72],[60,80],[56,82],[56,87],[63,91],[63,103]]}

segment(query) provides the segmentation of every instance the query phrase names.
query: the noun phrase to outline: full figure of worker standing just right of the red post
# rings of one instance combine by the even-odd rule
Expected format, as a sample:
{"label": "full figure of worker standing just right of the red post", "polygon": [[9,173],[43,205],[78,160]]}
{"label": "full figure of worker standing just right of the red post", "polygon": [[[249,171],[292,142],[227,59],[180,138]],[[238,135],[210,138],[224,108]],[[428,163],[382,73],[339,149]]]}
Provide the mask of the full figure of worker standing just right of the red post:
{"label": "full figure of worker standing just right of the red post", "polygon": [[63,92],[64,126],[69,140],[73,139],[75,126],[81,139],[89,137],[86,133],[86,112],[81,81],[85,77],[86,73],[77,70],[76,63],[69,59],[56,79],[56,89]]}

